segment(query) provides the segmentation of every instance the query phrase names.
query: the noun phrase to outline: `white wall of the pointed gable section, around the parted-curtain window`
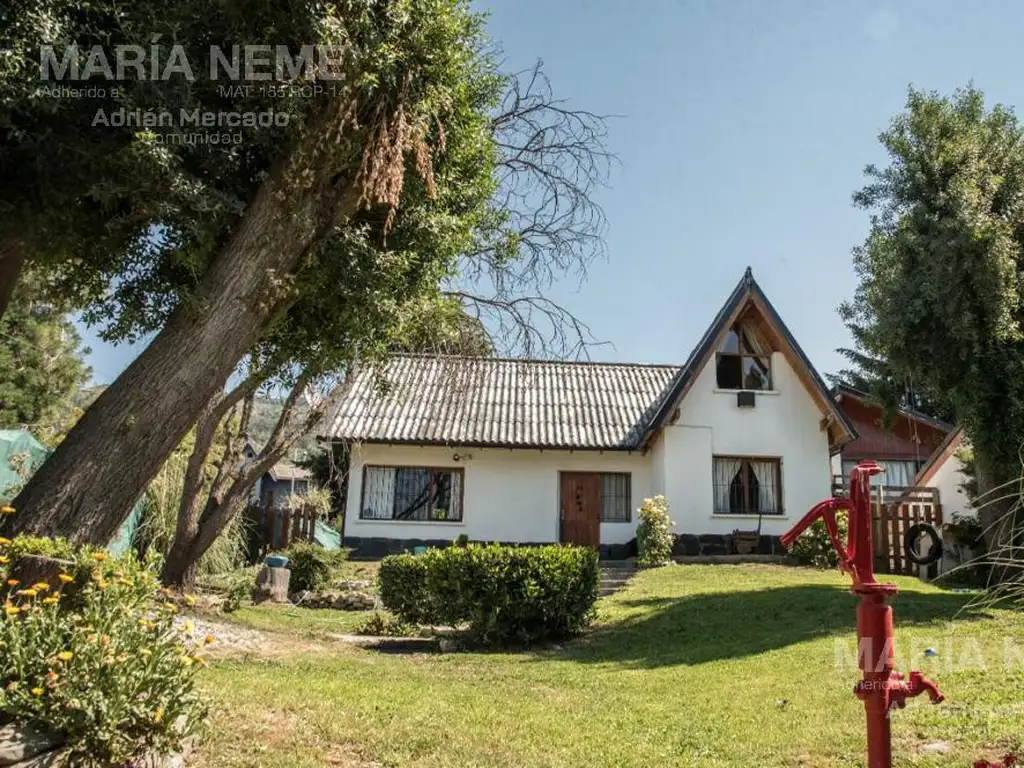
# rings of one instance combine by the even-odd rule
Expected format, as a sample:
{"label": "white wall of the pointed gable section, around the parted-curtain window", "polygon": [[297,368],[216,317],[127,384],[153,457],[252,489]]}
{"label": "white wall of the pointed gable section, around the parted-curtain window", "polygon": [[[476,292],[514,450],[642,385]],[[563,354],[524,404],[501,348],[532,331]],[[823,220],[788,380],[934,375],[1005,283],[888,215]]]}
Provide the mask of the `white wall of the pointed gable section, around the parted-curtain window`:
{"label": "white wall of the pointed gable section, around the parted-curtain window", "polygon": [[831,493],[828,437],[821,412],[785,357],[772,355],[773,391],[758,392],[753,409],[736,406],[736,392],[717,387],[714,357],[680,406],[678,421],[665,429],[665,487],[676,529],[728,534],[753,529],[757,515],[714,514],[712,458],[781,459],[781,516],[763,517],[762,532],[788,529]]}

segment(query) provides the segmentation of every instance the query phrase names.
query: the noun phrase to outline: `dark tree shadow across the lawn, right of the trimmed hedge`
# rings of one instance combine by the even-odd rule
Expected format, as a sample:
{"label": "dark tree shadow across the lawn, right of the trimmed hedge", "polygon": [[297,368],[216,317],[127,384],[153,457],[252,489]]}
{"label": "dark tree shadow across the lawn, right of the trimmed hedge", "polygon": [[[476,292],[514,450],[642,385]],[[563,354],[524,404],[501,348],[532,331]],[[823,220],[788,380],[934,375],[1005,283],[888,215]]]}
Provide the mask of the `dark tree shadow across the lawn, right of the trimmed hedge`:
{"label": "dark tree shadow across the lawn, right of the trimmed hedge", "polygon": [[[897,629],[985,617],[970,595],[902,593],[893,600]],[[595,628],[564,657],[653,668],[696,665],[763,653],[819,637],[854,632],[857,598],[824,585],[776,587],[679,598],[623,600],[644,612]]]}

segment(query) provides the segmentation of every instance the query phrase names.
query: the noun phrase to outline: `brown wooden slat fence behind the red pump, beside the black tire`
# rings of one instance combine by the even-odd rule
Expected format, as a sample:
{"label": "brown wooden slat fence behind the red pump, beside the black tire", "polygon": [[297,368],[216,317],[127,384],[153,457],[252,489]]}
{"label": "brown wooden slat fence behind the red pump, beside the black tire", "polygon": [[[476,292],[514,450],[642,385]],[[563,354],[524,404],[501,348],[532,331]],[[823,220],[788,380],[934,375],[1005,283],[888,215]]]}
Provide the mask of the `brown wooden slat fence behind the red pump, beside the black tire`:
{"label": "brown wooden slat fence behind the red pump, beside the black tire", "polygon": [[[846,496],[849,488],[834,479],[833,494]],[[874,543],[874,570],[878,573],[921,575],[921,567],[910,562],[903,540],[911,525],[942,526],[939,489],[927,486],[878,485],[871,488],[871,539]]]}

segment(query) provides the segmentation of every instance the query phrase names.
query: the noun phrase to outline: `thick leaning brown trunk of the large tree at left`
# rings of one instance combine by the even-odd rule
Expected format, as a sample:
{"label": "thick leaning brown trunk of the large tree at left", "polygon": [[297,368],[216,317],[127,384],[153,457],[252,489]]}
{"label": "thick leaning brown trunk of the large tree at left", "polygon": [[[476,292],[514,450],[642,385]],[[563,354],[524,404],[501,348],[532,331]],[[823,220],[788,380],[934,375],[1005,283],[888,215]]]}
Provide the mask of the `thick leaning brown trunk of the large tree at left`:
{"label": "thick leaning brown trunk of the large tree at left", "polygon": [[[329,104],[311,138],[264,183],[201,285],[86,411],[14,500],[0,530],[106,544],[273,313],[288,275],[357,209],[358,159],[338,168],[343,116]],[[318,135],[317,135],[318,134]],[[355,167],[352,167],[355,166]],[[284,287],[283,287],[284,284]]]}

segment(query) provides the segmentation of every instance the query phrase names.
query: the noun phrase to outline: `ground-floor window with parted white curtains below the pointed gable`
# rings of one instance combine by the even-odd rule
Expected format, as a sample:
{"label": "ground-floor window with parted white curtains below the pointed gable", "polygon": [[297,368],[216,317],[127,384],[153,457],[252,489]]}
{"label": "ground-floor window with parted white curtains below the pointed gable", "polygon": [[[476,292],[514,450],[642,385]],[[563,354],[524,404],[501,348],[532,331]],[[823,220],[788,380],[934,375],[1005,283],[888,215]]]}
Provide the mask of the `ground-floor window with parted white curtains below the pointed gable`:
{"label": "ground-floor window with parted white curtains below the pointed gable", "polygon": [[716,456],[712,475],[716,515],[782,514],[779,459]]}

